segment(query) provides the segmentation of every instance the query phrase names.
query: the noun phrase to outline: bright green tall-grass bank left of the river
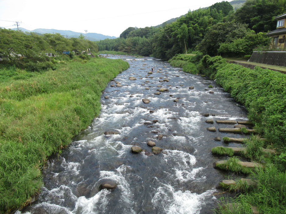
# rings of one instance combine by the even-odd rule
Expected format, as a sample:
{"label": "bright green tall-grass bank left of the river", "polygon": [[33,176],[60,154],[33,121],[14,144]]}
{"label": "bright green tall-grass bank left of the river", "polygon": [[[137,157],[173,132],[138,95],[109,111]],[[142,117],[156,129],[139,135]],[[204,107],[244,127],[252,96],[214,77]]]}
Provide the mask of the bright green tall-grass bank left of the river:
{"label": "bright green tall-grass bank left of the river", "polygon": [[101,109],[101,91],[128,67],[123,60],[93,58],[60,61],[44,73],[12,69],[11,77],[1,69],[1,213],[29,204],[42,186],[45,160],[91,123]]}

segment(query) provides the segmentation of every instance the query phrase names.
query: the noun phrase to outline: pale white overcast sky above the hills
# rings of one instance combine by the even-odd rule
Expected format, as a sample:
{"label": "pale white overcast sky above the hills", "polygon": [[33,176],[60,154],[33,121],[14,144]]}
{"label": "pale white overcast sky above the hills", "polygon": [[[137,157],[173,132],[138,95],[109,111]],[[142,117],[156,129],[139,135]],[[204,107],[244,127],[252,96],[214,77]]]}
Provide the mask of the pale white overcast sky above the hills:
{"label": "pale white overcast sky above the hills", "polygon": [[221,1],[0,0],[0,26],[14,28],[12,25],[19,21],[20,27],[28,30],[87,30],[118,37],[128,27],[156,26],[186,14],[189,9]]}

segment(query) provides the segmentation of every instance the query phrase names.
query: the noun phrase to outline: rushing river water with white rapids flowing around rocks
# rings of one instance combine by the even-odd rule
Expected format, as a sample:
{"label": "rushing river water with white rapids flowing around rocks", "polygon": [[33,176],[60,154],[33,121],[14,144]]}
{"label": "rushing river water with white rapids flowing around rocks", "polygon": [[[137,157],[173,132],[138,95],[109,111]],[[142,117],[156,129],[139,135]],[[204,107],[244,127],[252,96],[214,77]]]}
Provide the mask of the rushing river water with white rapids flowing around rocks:
{"label": "rushing river water with white rapids flowing around rocks", "polygon": [[[211,79],[184,73],[167,62],[130,60],[129,64],[114,79],[122,87],[111,87],[116,85],[111,81],[103,91],[100,115],[59,157],[48,161],[37,201],[17,213],[213,213],[211,209],[217,206],[213,194],[224,174],[214,169],[219,157],[210,149],[225,146],[214,137],[241,135],[209,132],[210,126],[218,130],[233,125],[205,120],[243,119],[245,108]],[[146,76],[151,67],[154,73]],[[131,76],[137,79],[129,80]],[[159,82],[165,78],[169,82]],[[154,95],[158,85],[169,92]],[[214,86],[213,94],[205,90],[209,85]],[[143,103],[143,98],[150,103]],[[175,98],[179,101],[173,102]],[[154,119],[158,122],[144,124]],[[120,134],[104,135],[110,130]],[[164,135],[161,140],[159,134]],[[130,152],[132,145],[151,151],[149,140],[163,152],[151,156]],[[117,188],[99,191],[103,181],[115,181]]]}

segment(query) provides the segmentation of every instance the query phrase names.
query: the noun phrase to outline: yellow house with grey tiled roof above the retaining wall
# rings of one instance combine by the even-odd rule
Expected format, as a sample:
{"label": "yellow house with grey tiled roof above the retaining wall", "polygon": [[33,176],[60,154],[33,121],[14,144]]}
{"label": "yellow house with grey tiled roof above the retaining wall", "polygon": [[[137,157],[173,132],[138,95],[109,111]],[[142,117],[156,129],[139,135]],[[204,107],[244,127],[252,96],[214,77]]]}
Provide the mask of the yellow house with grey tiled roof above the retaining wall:
{"label": "yellow house with grey tiled roof above the retaining wall", "polygon": [[271,44],[270,49],[283,49],[286,47],[285,37],[286,37],[286,13],[283,13],[280,16],[276,16],[275,20],[277,20],[276,30],[268,32],[266,35],[270,36]]}

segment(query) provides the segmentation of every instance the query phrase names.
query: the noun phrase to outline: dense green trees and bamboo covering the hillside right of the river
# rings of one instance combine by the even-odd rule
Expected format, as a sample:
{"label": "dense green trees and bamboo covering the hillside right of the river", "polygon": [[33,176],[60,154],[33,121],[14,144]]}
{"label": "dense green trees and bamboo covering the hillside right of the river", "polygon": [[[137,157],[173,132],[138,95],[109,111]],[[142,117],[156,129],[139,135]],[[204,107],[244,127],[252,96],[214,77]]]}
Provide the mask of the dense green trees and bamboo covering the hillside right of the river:
{"label": "dense green trees and bamboo covering the hillside right of the river", "polygon": [[200,50],[210,55],[251,54],[269,43],[266,32],[276,28],[275,16],[285,12],[285,0],[248,0],[234,12],[222,1],[188,12],[164,27],[129,27],[117,39],[97,42],[99,50],[124,51],[164,60]]}

